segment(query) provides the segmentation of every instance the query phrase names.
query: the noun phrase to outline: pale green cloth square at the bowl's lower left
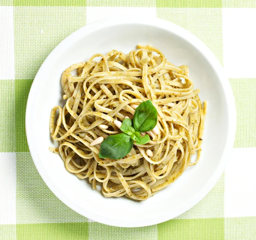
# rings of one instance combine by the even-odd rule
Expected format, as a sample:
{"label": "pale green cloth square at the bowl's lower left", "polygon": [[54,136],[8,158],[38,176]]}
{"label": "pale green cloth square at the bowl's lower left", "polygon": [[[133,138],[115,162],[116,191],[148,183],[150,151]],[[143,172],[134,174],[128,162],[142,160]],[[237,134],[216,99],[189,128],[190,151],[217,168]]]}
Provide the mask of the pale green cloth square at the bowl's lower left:
{"label": "pale green cloth square at the bowl's lower left", "polygon": [[16,177],[18,224],[88,222],[86,217],[70,209],[52,193],[35,168],[29,152],[16,153]]}

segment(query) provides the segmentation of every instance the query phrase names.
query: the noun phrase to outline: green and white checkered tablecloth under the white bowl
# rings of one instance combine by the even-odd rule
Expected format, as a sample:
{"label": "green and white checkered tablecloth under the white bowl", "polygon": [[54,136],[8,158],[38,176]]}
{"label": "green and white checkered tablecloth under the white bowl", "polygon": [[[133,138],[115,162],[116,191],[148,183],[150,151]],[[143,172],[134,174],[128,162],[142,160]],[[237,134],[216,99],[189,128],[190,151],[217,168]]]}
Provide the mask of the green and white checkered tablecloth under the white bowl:
{"label": "green and white checkered tablecloth under the white bowl", "polygon": [[[229,77],[237,132],[230,162],[203,200],[173,220],[127,229],[82,217],[48,189],[29,154],[25,109],[58,43],[129,13],[171,21],[206,43]],[[255,23],[256,0],[0,0],[0,240],[255,240]]]}

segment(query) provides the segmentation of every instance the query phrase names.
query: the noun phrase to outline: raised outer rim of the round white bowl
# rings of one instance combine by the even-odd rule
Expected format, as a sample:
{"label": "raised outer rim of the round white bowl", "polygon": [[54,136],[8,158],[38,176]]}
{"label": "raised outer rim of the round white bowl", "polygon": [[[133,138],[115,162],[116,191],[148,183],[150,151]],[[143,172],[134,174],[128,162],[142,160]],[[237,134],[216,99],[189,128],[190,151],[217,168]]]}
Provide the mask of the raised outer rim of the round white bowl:
{"label": "raised outer rim of the round white bowl", "polygon": [[[91,34],[94,31],[98,31],[100,29],[103,29],[105,27],[110,26],[119,26],[124,24],[143,24],[147,26],[153,26],[157,27],[163,30],[167,30],[172,32],[173,34],[176,34],[178,37],[186,39],[191,43],[197,51],[199,51],[208,61],[209,64],[211,64],[212,68],[215,70],[218,79],[220,81],[221,86],[224,89],[224,93],[226,95],[226,99],[229,102],[228,104],[228,116],[229,116],[229,122],[227,126],[227,141],[225,143],[224,152],[222,154],[220,163],[218,167],[215,169],[215,172],[212,174],[212,176],[209,177],[209,180],[205,185],[201,188],[200,191],[198,191],[194,197],[191,198],[191,200],[184,206],[175,209],[172,214],[169,214],[168,211],[164,215],[161,215],[157,218],[151,218],[148,220],[134,220],[134,221],[127,221],[127,220],[116,220],[112,219],[110,217],[101,216],[98,214],[94,214],[93,212],[89,212],[86,209],[81,209],[76,203],[70,201],[65,197],[64,194],[56,187],[55,183],[53,183],[50,178],[48,177],[47,171],[44,171],[44,167],[42,167],[42,164],[40,161],[37,161],[36,153],[32,147],[32,135],[33,132],[29,130],[29,126],[31,124],[31,120],[29,118],[30,114],[32,114],[33,111],[33,96],[35,95],[35,90],[38,87],[38,81],[37,79],[39,76],[44,73],[44,71],[47,71],[48,66],[50,66],[50,59],[54,56],[58,56],[58,54],[61,54],[63,49],[69,48],[74,42],[79,40],[81,37],[84,36],[84,32],[86,32],[86,35]],[[109,17],[102,20],[98,20],[96,22],[90,23],[84,27],[81,27],[80,29],[74,31],[72,34],[70,34],[68,37],[66,37],[61,43],[58,44],[58,46],[55,47],[55,49],[52,50],[52,52],[49,54],[49,56],[44,60],[44,63],[41,65],[40,69],[38,70],[38,73],[35,76],[35,79],[32,83],[31,89],[29,91],[29,96],[27,100],[26,105],[26,136],[27,136],[27,142],[30,150],[30,154],[32,156],[32,159],[34,161],[34,164],[41,175],[44,182],[47,184],[49,189],[53,192],[53,194],[56,195],[63,203],[65,203],[67,206],[69,206],[74,211],[78,212],[79,214],[83,215],[84,217],[87,217],[91,220],[94,220],[99,223],[104,223],[111,226],[118,226],[118,227],[143,227],[143,226],[150,226],[157,223],[162,223],[167,220],[170,220],[174,217],[179,216],[183,212],[189,210],[193,206],[195,206],[196,203],[198,203],[203,197],[207,195],[207,193],[213,188],[215,183],[217,183],[218,179],[221,177],[221,174],[224,171],[224,168],[227,164],[227,161],[230,157],[231,150],[233,149],[233,144],[235,140],[235,133],[236,133],[236,107],[235,107],[235,100],[233,97],[232,89],[230,86],[230,83],[225,76],[225,73],[222,69],[221,64],[218,62],[215,55],[208,49],[208,47],[197,37],[195,37],[194,34],[187,31],[186,29],[183,29],[180,26],[177,26],[176,24],[159,19],[157,17],[151,17],[150,19],[145,19],[143,17],[137,17],[137,18],[129,18],[129,17],[122,17],[120,19],[119,17]]]}

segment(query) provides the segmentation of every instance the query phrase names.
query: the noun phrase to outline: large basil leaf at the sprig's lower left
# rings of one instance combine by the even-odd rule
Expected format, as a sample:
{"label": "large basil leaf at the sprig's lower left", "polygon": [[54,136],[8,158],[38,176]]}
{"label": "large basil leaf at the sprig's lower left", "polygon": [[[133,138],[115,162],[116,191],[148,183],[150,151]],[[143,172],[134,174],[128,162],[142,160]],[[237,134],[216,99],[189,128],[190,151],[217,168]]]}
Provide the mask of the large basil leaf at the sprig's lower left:
{"label": "large basil leaf at the sprig's lower left", "polygon": [[111,135],[101,143],[99,157],[120,159],[131,151],[133,145],[134,140],[125,133]]}

